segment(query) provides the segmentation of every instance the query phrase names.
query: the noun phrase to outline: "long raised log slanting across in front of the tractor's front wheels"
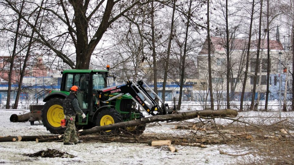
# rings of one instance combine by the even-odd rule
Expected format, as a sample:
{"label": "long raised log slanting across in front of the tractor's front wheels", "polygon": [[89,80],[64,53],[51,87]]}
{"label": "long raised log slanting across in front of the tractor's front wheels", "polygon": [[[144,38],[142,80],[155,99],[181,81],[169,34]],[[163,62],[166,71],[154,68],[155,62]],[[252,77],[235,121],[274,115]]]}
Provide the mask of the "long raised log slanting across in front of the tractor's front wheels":
{"label": "long raised log slanting across in front of the tractor's front wheels", "polygon": [[96,126],[91,129],[83,130],[79,132],[79,135],[86,135],[86,134],[94,134],[99,133],[101,131],[107,131],[107,130],[114,130],[116,128],[125,128],[125,127],[134,127],[146,123],[153,123],[153,122],[159,122],[159,121],[182,121],[186,119],[193,119],[196,117],[236,117],[238,115],[238,112],[236,110],[232,109],[224,109],[224,110],[202,110],[202,111],[190,111],[190,112],[178,112],[168,115],[157,115],[157,116],[150,116],[141,118],[140,120],[131,120],[121,123],[114,123],[109,124],[106,126]]}

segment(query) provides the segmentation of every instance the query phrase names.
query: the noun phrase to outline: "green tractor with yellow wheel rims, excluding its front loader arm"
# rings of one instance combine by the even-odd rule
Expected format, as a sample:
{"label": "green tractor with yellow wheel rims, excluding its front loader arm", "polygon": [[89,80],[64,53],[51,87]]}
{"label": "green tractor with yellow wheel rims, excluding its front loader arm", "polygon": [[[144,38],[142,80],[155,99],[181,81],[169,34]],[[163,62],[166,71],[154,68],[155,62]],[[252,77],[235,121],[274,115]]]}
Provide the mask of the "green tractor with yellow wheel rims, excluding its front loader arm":
{"label": "green tractor with yellow wheel rims, excluding its front loader arm", "polygon": [[[61,126],[64,119],[63,100],[69,95],[71,86],[79,86],[77,99],[86,118],[76,117],[77,128],[91,128],[104,126],[123,121],[143,118],[143,114],[137,108],[136,101],[128,94],[120,91],[105,93],[100,98],[98,91],[107,88],[107,70],[65,70],[62,73],[60,90],[52,90],[44,98],[45,105],[42,109],[42,122],[52,134],[63,134],[65,128]],[[102,99],[103,98],[103,99]],[[110,101],[108,99],[112,98]],[[126,128],[127,132],[142,134],[145,125]],[[108,130],[101,134],[115,134],[118,130]]]}

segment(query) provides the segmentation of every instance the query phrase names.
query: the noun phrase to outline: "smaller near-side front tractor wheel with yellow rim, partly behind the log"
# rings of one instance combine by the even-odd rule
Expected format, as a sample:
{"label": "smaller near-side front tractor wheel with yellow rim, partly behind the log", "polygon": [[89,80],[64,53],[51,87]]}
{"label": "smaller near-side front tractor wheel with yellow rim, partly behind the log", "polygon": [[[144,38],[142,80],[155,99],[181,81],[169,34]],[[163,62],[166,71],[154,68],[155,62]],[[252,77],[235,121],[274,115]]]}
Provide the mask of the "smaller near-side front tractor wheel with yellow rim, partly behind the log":
{"label": "smaller near-side front tractor wheel with yellow rim, partly behind the log", "polygon": [[[96,119],[96,126],[106,126],[109,124],[120,123],[122,122],[122,117],[120,116],[119,112],[115,109],[103,109],[97,116]],[[111,135],[111,134],[119,134],[120,130],[107,130],[102,131],[100,134],[102,135]]]}

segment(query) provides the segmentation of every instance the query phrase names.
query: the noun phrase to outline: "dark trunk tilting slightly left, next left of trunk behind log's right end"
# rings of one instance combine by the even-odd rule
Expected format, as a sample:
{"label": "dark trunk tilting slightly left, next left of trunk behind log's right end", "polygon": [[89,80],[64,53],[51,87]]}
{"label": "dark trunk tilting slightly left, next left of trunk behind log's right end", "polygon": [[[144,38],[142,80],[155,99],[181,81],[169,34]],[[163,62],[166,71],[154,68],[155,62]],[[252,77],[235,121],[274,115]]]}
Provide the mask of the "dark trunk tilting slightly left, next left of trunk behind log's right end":
{"label": "dark trunk tilting slightly left, next left of trunk behind log's right end", "polygon": [[207,1],[207,49],[208,49],[208,83],[209,83],[209,94],[210,94],[210,107],[214,109],[213,103],[213,89],[212,89],[212,76],[211,76],[211,50],[210,50],[210,28],[209,28],[209,0]]}

